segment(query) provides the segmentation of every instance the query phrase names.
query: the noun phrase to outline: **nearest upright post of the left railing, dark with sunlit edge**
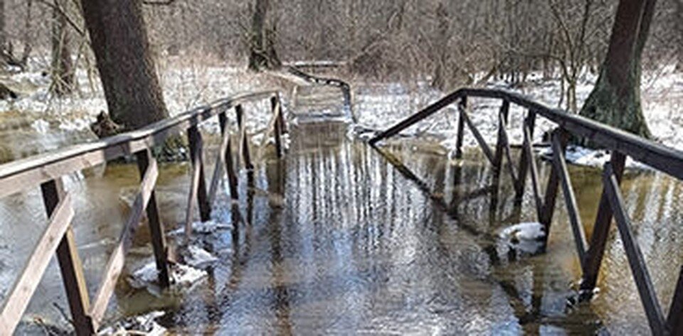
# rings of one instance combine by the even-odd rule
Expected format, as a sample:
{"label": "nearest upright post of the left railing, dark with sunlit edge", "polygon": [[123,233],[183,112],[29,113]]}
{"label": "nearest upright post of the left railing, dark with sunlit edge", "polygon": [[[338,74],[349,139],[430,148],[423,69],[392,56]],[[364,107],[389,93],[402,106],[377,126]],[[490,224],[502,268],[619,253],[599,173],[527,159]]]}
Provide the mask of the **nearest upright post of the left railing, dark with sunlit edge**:
{"label": "nearest upright post of the left railing, dark with sunlit edge", "polygon": [[[61,178],[41,184],[43,203],[48,217],[55,211],[64,195]],[[78,249],[73,237],[73,229],[69,227],[57,247],[57,260],[62,273],[62,281],[68,296],[71,318],[76,335],[95,335],[95,324],[88,312],[90,296],[83,276],[83,264],[78,256]]]}

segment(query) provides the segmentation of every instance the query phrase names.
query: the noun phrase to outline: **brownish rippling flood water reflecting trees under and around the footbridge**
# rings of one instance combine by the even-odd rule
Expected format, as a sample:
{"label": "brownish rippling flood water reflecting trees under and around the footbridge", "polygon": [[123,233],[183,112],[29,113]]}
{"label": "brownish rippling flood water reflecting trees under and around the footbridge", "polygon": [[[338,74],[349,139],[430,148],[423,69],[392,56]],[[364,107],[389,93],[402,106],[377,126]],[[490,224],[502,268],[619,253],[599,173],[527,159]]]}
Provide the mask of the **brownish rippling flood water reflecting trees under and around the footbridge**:
{"label": "brownish rippling flood water reflecting trees under and around the footbridge", "polygon": [[[282,160],[264,155],[253,188],[240,174],[236,207],[221,189],[213,219],[232,229],[196,242],[219,257],[208,278],[159,295],[131,288],[124,275],[107,318],[162,309],[160,323],[177,335],[649,333],[615,228],[600,293],[591,303],[568,305],[581,271],[561,195],[548,251],[512,258],[499,232],[536,221],[532,200],[527,193],[515,205],[505,172],[500,187],[489,188],[492,170],[479,151],[449,161],[438,146],[404,140],[381,148],[405,164],[397,168],[347,133],[344,124],[292,129],[290,151]],[[539,165],[547,176],[549,166]],[[570,170],[590,237],[600,171]],[[122,195],[138,179],[137,168],[125,164],[66,179],[91,296],[125,222]],[[183,220],[188,189],[186,164],[162,166],[157,195],[169,231]],[[683,183],[628,172],[623,193],[666,312],[683,264]],[[0,201],[3,296],[44,228],[43,212],[38,188]],[[145,231],[129,270],[152,255]],[[53,261],[27,319],[65,325],[56,308],[66,310],[61,287]]]}

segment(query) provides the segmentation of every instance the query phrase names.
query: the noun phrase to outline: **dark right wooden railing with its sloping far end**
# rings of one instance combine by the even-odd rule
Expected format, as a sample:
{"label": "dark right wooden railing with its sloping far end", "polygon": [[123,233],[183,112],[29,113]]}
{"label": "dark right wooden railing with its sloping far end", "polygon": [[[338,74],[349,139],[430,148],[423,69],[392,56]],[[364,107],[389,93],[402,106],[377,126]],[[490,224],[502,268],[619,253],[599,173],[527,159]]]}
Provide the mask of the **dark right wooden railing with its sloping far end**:
{"label": "dark right wooden railing with its sloping far end", "polygon": [[[470,120],[469,113],[467,112],[467,99],[470,97],[502,100],[502,107],[498,114],[498,139],[494,151],[492,151],[482,134],[480,134],[480,131]],[[532,102],[519,94],[501,90],[475,89],[458,90],[449,94],[447,97],[440,99],[438,102],[396,124],[396,126],[381,132],[374,139],[371,139],[370,143],[374,146],[378,141],[400,133],[403,129],[422,121],[455,102],[458,102],[459,115],[456,156],[462,157],[462,141],[465,125],[467,125],[482,148],[485,157],[494,166],[494,171],[496,172],[494,178],[498,178],[504,168],[503,158],[506,159],[507,165],[505,168],[509,171],[515,193],[520,200],[524,195],[526,177],[531,175],[531,190],[534,197],[536,216],[539,222],[544,225],[545,232],[548,233],[546,234],[546,242],[550,232],[556,196],[561,188],[583,272],[581,279],[582,293],[592,293],[595,288],[605,251],[605,244],[608,240],[610,224],[614,217],[618,232],[624,242],[625,253],[628,257],[632,275],[635,279],[652,333],[655,335],[683,335],[683,267],[679,272],[668,316],[665,318],[665,314],[662,312],[660,302],[652,286],[652,280],[650,273],[647,271],[645,259],[633,234],[632,225],[620,193],[620,180],[623,176],[627,157],[631,157],[663,173],[668,173],[679,180],[683,180],[683,152],[647,141],[646,139],[575,114],[551,109],[543,104]],[[509,136],[506,129],[510,104],[517,104],[527,110],[526,117],[522,123],[524,141],[517,170],[512,161]],[[536,124],[536,118],[539,116],[549,119],[557,125],[556,129],[552,132],[553,158],[551,161],[551,173],[544,194],[541,194],[538,168],[534,158],[534,151],[532,150],[534,125]],[[610,161],[604,167],[603,195],[600,198],[590,244],[588,239],[586,239],[586,234],[583,232],[583,224],[578,214],[576,195],[574,195],[565,160],[565,151],[570,135],[581,139],[588,139],[592,143],[608,149],[611,153]]]}

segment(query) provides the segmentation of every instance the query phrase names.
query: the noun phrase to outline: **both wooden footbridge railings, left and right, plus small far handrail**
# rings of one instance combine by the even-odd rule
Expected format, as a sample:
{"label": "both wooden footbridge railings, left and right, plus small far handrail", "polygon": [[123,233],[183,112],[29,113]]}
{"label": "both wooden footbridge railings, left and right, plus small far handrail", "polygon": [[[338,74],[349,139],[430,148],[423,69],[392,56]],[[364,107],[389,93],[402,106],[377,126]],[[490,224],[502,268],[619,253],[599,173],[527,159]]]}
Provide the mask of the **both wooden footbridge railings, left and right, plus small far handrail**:
{"label": "both wooden footbridge railings, left and right, plus small far handrail", "polygon": [[[299,70],[292,72],[310,82],[339,87],[342,90],[345,104],[351,111],[350,88],[346,83],[305,75]],[[14,288],[9,292],[4,305],[2,305],[0,335],[11,335],[18,325],[28,301],[36,291],[53,255],[56,255],[58,259],[63,286],[68,294],[68,305],[75,332],[78,335],[94,335],[102,323],[107,303],[124,269],[125,257],[132,246],[134,232],[139,227],[145,213],[151,232],[151,243],[154,247],[159,284],[162,287],[171,286],[169,246],[166,244],[164,225],[159,220],[159,211],[162,209],[159,209],[154,193],[159,170],[152,150],[163,146],[170,137],[186,134],[189,140],[190,161],[193,167],[185,221],[186,234],[189,236],[191,234],[191,216],[195,211],[195,206],[198,206],[202,221],[210,219],[213,200],[216,198],[218,185],[223,176],[227,176],[231,197],[233,199],[238,198],[238,170],[235,167],[233,151],[231,150],[233,147],[231,134],[234,132],[228,123],[228,113],[235,113],[238,124],[236,132],[239,135],[238,152],[242,157],[241,162],[249,174],[253,170],[253,163],[251,162],[247,142],[248,134],[244,122],[249,113],[245,111],[243,104],[263,100],[270,102],[270,112],[272,112],[270,125],[272,127],[269,129],[275,139],[277,156],[283,156],[286,150],[283,146],[282,136],[287,132],[287,118],[282,109],[281,97],[280,92],[240,94],[218,100],[205,107],[198,107],[172,119],[149,125],[144,129],[0,166],[0,197],[20,193],[39,185],[48,217],[48,225],[42,237],[38,239],[38,244],[28,258],[26,266],[18,275]],[[494,148],[487,145],[486,139],[470,120],[470,112],[467,109],[468,101],[476,98],[502,101],[498,115],[497,143]],[[445,107],[451,104],[457,104],[459,111],[457,156],[462,155],[463,137],[465,136],[465,127],[467,127],[479,143],[487,160],[494,167],[496,176],[499,176],[503,170],[509,173],[519,199],[524,195],[525,190],[528,190],[525,188],[525,183],[530,176],[536,215],[539,222],[544,225],[545,232],[551,232],[550,225],[554,215],[556,196],[560,192],[563,193],[574,242],[576,243],[577,257],[583,271],[581,281],[583,293],[592,293],[593,288],[595,288],[605,251],[605,243],[608,240],[608,232],[614,219],[625,245],[625,254],[628,256],[632,277],[637,284],[652,333],[655,335],[683,335],[683,268],[678,278],[672,304],[665,314],[665,310],[662,309],[655,295],[652,280],[637,244],[637,239],[634,237],[625,203],[620,194],[620,180],[623,176],[627,157],[683,180],[683,153],[681,151],[640,139],[637,136],[626,134],[623,131],[598,124],[581,116],[550,109],[518,94],[499,90],[470,89],[458,90],[449,94],[405,121],[391,127],[391,129],[379,133],[374,139],[371,139],[370,145],[378,146],[384,139],[395,136],[403,129],[433,114],[442,112]],[[510,116],[511,104],[517,104],[526,110],[526,115],[523,116],[524,143],[518,162],[513,161],[507,134],[507,124],[512,117]],[[218,160],[213,167],[211,180],[207,184],[202,158],[204,146],[199,126],[213,118],[217,118],[218,124],[221,126],[221,144],[218,147]],[[544,193],[541,193],[541,181],[532,148],[534,125],[538,118],[545,118],[556,124],[556,129],[552,133],[554,153],[552,170]],[[605,164],[603,168],[603,195],[591,237],[586,237],[583,232],[583,224],[578,215],[578,205],[567,170],[565,150],[570,137],[590,140],[592,143],[608,149],[611,153],[609,163]],[[78,246],[75,244],[73,230],[70,227],[76,210],[73,208],[69,193],[63,188],[62,179],[65,175],[123,157],[135,158],[141,183],[129,218],[125,222],[120,238],[105,267],[105,275],[102,276],[102,281],[97,287],[97,293],[91,298],[86,288]],[[438,197],[435,197],[435,201],[439,201]],[[546,234],[546,239],[547,237],[548,234]]]}

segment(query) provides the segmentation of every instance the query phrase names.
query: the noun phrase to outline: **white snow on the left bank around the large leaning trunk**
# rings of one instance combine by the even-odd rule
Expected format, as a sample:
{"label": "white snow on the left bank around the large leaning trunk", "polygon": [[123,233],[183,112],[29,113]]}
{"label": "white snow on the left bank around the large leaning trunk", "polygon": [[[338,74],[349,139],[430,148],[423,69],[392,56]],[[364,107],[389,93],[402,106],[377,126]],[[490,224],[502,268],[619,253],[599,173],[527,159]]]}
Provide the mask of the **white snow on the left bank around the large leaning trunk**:
{"label": "white snow on the left bank around the large leaning trunk", "polygon": [[[0,75],[0,81],[10,81],[21,88],[18,99],[0,100],[0,114],[18,111],[43,116],[32,122],[36,131],[44,133],[46,127],[49,128],[48,121],[53,120],[58,121],[59,129],[88,129],[95,116],[107,110],[97,73],[77,70],[77,92],[73,97],[59,98],[49,94],[51,80],[43,73],[44,68],[43,63],[33,60],[26,72]],[[159,63],[159,79],[171,116],[240,92],[277,87],[269,75],[253,74],[243,65],[206,65],[184,58],[171,58]],[[256,109],[264,113],[251,112]],[[248,127],[265,125],[269,120],[270,102],[245,104],[245,110]],[[228,115],[234,123],[233,114]],[[207,129],[217,130],[217,122],[208,123]]]}

